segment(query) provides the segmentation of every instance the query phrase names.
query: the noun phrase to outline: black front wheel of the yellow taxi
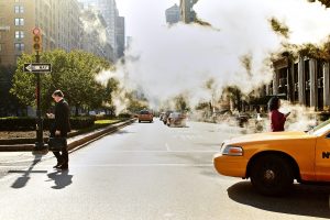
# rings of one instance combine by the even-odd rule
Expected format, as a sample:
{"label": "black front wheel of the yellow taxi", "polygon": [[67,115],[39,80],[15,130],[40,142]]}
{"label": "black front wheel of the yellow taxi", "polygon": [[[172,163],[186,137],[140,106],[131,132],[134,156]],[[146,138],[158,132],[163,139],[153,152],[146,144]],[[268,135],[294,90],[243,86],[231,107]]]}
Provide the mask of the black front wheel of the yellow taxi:
{"label": "black front wheel of the yellow taxi", "polygon": [[252,164],[250,178],[261,194],[280,196],[293,186],[294,172],[286,158],[279,155],[265,155]]}

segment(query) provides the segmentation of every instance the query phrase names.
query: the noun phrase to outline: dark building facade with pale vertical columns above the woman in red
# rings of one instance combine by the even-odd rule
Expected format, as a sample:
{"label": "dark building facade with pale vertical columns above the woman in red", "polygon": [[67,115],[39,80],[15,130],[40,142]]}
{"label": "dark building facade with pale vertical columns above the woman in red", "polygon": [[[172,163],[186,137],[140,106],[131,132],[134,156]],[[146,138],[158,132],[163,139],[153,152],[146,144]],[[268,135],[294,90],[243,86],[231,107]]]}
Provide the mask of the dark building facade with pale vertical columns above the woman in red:
{"label": "dark building facade with pale vertical columns above the woman in red", "polygon": [[310,107],[316,111],[330,110],[329,63],[299,56],[274,63],[273,80],[266,95],[284,95],[292,103]]}

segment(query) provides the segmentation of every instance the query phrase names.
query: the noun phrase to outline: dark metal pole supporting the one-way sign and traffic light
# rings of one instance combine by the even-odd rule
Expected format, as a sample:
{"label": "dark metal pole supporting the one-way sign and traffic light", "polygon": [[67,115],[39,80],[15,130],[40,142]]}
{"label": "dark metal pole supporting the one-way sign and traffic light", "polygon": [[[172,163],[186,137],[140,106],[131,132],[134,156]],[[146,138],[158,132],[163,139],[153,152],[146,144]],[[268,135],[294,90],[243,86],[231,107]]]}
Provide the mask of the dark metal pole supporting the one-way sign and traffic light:
{"label": "dark metal pole supporting the one-way sign and traffic light", "polygon": [[[40,54],[36,52],[35,62],[40,63]],[[41,85],[40,85],[40,73],[36,73],[36,142],[35,150],[43,150],[44,139],[43,139],[43,119],[41,116]]]}

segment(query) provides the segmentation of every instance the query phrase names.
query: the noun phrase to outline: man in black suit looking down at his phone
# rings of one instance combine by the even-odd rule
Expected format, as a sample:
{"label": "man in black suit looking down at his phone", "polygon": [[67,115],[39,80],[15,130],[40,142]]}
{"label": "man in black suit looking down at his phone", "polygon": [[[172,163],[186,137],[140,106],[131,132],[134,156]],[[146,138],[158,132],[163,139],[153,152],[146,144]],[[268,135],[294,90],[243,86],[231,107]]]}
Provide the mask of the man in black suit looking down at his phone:
{"label": "man in black suit looking down at his phone", "polygon": [[69,123],[69,106],[64,100],[64,95],[61,90],[56,90],[52,95],[55,106],[55,116],[52,113],[47,113],[48,118],[55,117],[55,122],[51,128],[51,135],[65,138],[65,146],[61,152],[53,152],[55,157],[57,158],[57,164],[54,168],[59,169],[68,169],[68,151],[67,151],[67,133],[70,132],[70,123]]}

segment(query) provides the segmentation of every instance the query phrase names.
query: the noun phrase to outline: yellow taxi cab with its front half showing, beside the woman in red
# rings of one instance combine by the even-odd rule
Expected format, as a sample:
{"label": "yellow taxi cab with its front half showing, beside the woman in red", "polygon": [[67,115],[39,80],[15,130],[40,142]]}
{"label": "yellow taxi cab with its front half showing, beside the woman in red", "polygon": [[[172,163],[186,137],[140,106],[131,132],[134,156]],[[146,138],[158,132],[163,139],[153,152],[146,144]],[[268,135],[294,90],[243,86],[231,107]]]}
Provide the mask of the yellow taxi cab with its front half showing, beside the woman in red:
{"label": "yellow taxi cab with its front half showing, beside the woman in red", "polygon": [[248,134],[222,143],[218,173],[250,178],[257,191],[282,195],[298,183],[330,183],[330,120],[308,132]]}

